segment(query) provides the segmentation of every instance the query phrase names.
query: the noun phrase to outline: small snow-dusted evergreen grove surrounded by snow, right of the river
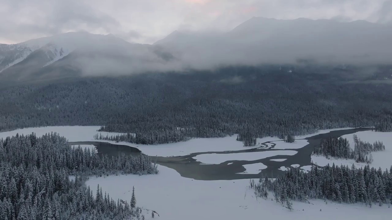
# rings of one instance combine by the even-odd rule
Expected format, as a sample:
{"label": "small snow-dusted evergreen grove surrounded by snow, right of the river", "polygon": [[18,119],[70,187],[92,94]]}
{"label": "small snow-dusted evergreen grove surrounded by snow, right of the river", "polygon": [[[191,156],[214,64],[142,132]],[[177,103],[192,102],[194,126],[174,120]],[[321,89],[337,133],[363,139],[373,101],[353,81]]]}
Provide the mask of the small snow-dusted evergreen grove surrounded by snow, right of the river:
{"label": "small snow-dusted evergreen grove surrounded by snow, right of the river", "polygon": [[333,138],[322,140],[320,146],[315,148],[313,153],[316,155],[323,155],[325,157],[354,159],[356,162],[366,162],[368,164],[373,162],[372,155],[368,154],[374,151],[385,150],[383,142],[376,141],[373,144],[361,141],[357,135],[354,137],[354,150],[350,147],[347,138]]}

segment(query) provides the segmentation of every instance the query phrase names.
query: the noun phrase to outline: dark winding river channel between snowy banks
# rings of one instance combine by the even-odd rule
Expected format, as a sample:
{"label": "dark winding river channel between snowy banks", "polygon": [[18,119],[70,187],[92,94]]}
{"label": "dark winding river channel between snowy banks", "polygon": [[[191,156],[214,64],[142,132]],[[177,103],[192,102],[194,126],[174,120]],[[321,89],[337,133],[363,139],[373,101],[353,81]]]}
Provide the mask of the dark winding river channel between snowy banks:
{"label": "dark winding river channel between snowy banks", "polygon": [[[211,153],[245,153],[245,152],[261,152],[261,151],[274,151],[276,149],[269,148],[263,149],[258,148],[246,148],[238,151],[209,151],[209,152],[198,152],[191,153],[185,156],[178,157],[153,157],[152,160],[156,159],[156,162],[162,166],[166,166],[176,170],[182,177],[187,177],[196,180],[235,180],[235,179],[254,179],[259,178],[260,175],[267,175],[269,177],[276,177],[283,174],[283,171],[279,170],[281,166],[290,167],[292,164],[299,164],[300,166],[312,165],[310,161],[310,153],[316,146],[319,146],[322,139],[328,137],[340,137],[342,135],[351,134],[360,131],[371,130],[372,128],[352,128],[335,130],[328,133],[316,134],[311,137],[305,138],[308,144],[303,148],[299,149],[287,149],[298,151],[295,155],[277,155],[273,157],[267,157],[260,160],[231,160],[221,164],[201,164],[199,161],[193,159],[196,155],[200,154],[211,154]],[[276,142],[276,141],[274,141]],[[265,142],[267,143],[267,142]],[[263,144],[265,144],[263,143]],[[97,141],[84,141],[84,142],[70,142],[72,145],[78,144],[91,144],[96,147],[98,154],[107,154],[109,156],[118,156],[121,153],[138,155],[141,151],[138,148],[131,146],[111,144],[107,142]],[[272,144],[273,146],[274,144]],[[285,150],[285,149],[279,149]],[[271,159],[286,159],[284,161],[272,161]],[[229,164],[230,163],[230,164]],[[263,163],[267,166],[266,169],[261,170],[259,174],[242,174],[245,168],[242,165]],[[240,174],[241,173],[241,174]]]}

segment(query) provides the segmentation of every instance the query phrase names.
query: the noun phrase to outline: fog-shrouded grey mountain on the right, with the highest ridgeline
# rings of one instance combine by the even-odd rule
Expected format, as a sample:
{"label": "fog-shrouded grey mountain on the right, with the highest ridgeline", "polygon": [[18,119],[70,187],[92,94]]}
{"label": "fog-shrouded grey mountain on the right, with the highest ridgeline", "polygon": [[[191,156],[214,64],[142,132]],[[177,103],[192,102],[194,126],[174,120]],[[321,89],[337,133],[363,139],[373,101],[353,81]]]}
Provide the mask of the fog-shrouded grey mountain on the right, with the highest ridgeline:
{"label": "fog-shrouded grey mountain on the right, with the highest ridgeline", "polygon": [[312,59],[328,63],[390,63],[392,29],[366,21],[253,17],[222,34],[174,32],[156,42],[193,64],[257,65]]}

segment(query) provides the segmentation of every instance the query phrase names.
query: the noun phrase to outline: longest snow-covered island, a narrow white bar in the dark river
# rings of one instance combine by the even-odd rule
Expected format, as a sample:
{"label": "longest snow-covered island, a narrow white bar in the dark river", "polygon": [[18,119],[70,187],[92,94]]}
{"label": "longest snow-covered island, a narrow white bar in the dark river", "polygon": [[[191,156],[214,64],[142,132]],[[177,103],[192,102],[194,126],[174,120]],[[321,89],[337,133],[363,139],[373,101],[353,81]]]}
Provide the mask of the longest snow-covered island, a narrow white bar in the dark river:
{"label": "longest snow-covered island, a narrow white bar in the dark river", "polygon": [[249,152],[249,153],[206,153],[199,154],[195,157],[197,161],[205,164],[221,164],[229,160],[259,160],[267,157],[273,157],[277,155],[294,155],[298,151],[294,150],[274,150],[274,151],[262,151],[262,152]]}

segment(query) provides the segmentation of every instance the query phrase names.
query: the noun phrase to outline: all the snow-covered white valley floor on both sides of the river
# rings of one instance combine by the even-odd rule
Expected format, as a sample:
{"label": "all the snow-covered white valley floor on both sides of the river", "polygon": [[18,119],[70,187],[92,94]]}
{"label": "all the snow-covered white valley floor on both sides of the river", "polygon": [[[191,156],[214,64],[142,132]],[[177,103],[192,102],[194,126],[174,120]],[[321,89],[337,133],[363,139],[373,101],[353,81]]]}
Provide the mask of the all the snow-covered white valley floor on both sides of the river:
{"label": "all the snow-covered white valley floor on both sides of the river", "polygon": [[[29,134],[35,132],[37,136],[47,132],[58,132],[64,135],[69,141],[96,141],[93,135],[98,133],[96,130],[99,126],[64,126],[64,127],[45,127],[45,128],[26,128],[11,132],[0,133],[0,138],[19,134]],[[322,131],[328,132],[328,131]],[[385,133],[384,136],[378,132],[356,133],[363,141],[384,141],[386,151],[380,152],[383,157],[389,157],[392,154],[392,144],[388,140],[392,139],[392,134]],[[102,132],[106,135],[106,132]],[[114,133],[110,133],[114,134]],[[369,136],[369,139],[365,137]],[[311,135],[309,135],[311,136]],[[352,135],[347,135],[351,137]],[[303,138],[303,137],[302,137]],[[383,138],[383,139],[382,139]],[[389,138],[389,139],[388,139]],[[276,149],[290,151],[290,144],[278,141],[276,138],[260,139],[258,142],[272,141],[276,144]],[[113,142],[112,142],[113,143]],[[129,146],[138,146],[136,144],[118,143]],[[300,148],[299,144],[305,146],[306,141],[298,140],[291,149]],[[257,147],[257,146],[256,146]],[[138,146],[143,153],[147,155],[172,156],[187,155],[189,153],[204,151],[225,151],[225,150],[242,150],[244,147],[241,142],[235,141],[235,137],[226,137],[220,139],[192,139],[188,142],[174,144],[162,144],[155,146]],[[288,149],[288,150],[287,150]],[[256,152],[263,155],[262,152]],[[266,151],[265,153],[268,153]],[[214,155],[214,154],[211,154]],[[216,154],[219,155],[219,154]],[[374,163],[377,163],[377,155],[374,154]],[[380,156],[381,158],[381,156]],[[205,163],[219,163],[222,158],[209,158],[202,160]],[[233,159],[233,158],[230,158]],[[235,159],[235,158],[234,158]],[[240,158],[241,160],[246,158]],[[314,158],[313,158],[314,159]],[[324,158],[325,159],[325,158]],[[218,161],[219,160],[219,161]],[[328,159],[325,159],[328,160]],[[338,163],[339,160],[328,160]],[[323,165],[320,158],[314,159],[318,165]],[[391,163],[390,160],[383,160],[383,163]],[[325,162],[323,162],[325,163]],[[260,165],[260,168],[256,166]],[[263,164],[246,167],[249,172],[257,172],[264,169]],[[298,164],[292,164],[298,166]],[[305,166],[303,167],[304,170]],[[282,169],[286,169],[282,167]],[[385,168],[384,168],[385,169]],[[238,220],[238,219],[301,219],[301,220],[368,220],[368,219],[389,219],[392,209],[388,205],[372,208],[362,204],[336,204],[330,201],[311,200],[312,204],[293,201],[294,210],[289,211],[281,204],[271,201],[272,195],[268,200],[257,198],[253,189],[249,189],[249,179],[243,180],[194,180],[181,177],[179,173],[165,166],[158,166],[158,175],[118,175],[109,177],[92,177],[87,181],[92,189],[99,184],[103,192],[109,193],[114,200],[122,199],[129,201],[132,194],[132,186],[135,187],[137,206],[144,209],[154,210],[160,216],[155,215],[157,219],[163,220]],[[257,181],[257,179],[255,180]],[[151,213],[151,211],[149,212]],[[151,215],[146,216],[151,219]],[[154,219],[155,219],[154,218]]]}

